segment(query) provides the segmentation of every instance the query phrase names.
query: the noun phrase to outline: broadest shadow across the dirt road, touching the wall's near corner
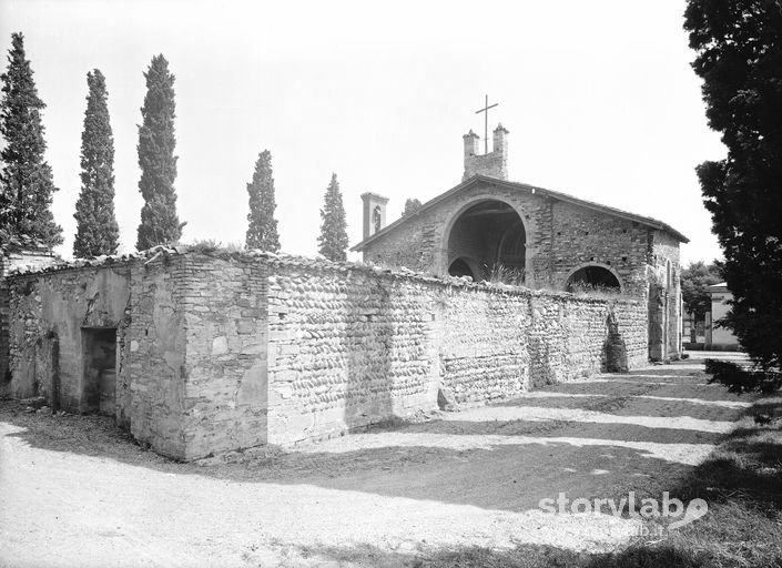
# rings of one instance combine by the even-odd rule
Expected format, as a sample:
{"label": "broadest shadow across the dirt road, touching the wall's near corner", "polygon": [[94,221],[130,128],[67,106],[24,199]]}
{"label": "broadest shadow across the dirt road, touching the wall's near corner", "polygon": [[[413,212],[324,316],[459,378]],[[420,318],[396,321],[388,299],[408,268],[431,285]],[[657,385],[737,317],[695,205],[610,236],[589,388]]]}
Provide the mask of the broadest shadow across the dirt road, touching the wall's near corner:
{"label": "broadest shadow across the dirt road, touching the wall's near corner", "polygon": [[[395,427],[373,430],[368,435],[387,444],[382,447],[347,446],[326,452],[323,446],[311,446],[306,450],[272,454],[262,448],[257,453],[236,454],[235,463],[177,464],[134,444],[130,436],[113,427],[110,418],[14,414],[9,409],[8,405],[0,406],[0,422],[18,429],[7,435],[43,449],[109,457],[180,475],[243,483],[311,484],[328,489],[510,511],[537,509],[540,499],[556,497],[560,490],[569,491],[571,498],[602,495],[607,487],[611,491],[634,490],[639,495],[649,495],[661,489],[663,481],[671,483],[691,469],[689,465],[666,458],[658,447],[649,449],[619,444],[621,436],[627,437],[629,433],[633,433],[633,437],[648,438],[649,434],[642,429],[622,429],[621,425],[617,429],[615,425],[611,430],[607,425],[577,424],[563,432],[559,423],[530,424],[536,428],[537,437],[522,444],[498,445],[481,440],[474,444],[470,440],[460,447],[459,438],[464,436],[450,436],[456,434],[454,430],[438,432],[440,426],[459,427],[459,424],[430,423],[430,427],[436,427],[431,433],[435,439],[413,440],[409,445],[395,445],[394,439],[384,442],[388,436],[408,433],[408,428]],[[505,426],[505,423],[490,424],[495,428]],[[517,422],[509,425],[524,427]],[[415,432],[409,434],[417,435]],[[663,436],[674,434],[669,432]],[[556,439],[557,435],[595,439],[588,444],[580,444],[578,439],[568,443]],[[356,438],[359,436],[367,435],[356,435]],[[605,442],[601,437],[606,438]],[[437,438],[446,438],[446,445],[438,446]]]}

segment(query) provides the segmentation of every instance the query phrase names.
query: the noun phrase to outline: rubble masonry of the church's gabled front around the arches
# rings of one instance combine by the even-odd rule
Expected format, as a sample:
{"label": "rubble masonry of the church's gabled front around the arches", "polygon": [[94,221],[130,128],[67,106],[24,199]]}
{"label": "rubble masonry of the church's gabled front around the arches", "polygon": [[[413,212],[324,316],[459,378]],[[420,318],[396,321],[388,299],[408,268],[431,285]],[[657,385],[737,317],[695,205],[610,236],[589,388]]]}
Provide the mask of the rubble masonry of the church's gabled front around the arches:
{"label": "rubble masonry of the church's gabled front around the arches", "polygon": [[450,227],[461,213],[486,200],[501,201],[519,213],[527,234],[525,272],[531,288],[563,290],[579,267],[600,265],[618,276],[624,294],[640,297],[648,293],[647,268],[656,256],[670,260],[679,270],[678,242],[664,231],[489,180],[389,227],[382,239],[364,245],[364,261],[448,274],[450,263],[463,254],[448,250]]}

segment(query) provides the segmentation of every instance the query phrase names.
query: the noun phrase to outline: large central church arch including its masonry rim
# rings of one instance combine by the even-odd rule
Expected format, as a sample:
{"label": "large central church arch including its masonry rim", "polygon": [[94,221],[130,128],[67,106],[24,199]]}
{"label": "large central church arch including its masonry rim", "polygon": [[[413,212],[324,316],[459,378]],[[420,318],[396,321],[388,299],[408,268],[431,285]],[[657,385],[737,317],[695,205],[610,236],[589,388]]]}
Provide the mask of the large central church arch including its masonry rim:
{"label": "large central church arch including its masonry rim", "polygon": [[[500,268],[515,281],[531,282],[527,224],[512,203],[494,195],[476,196],[456,211],[440,235],[436,258],[441,274],[464,272],[490,278]],[[525,278],[526,276],[526,278]]]}

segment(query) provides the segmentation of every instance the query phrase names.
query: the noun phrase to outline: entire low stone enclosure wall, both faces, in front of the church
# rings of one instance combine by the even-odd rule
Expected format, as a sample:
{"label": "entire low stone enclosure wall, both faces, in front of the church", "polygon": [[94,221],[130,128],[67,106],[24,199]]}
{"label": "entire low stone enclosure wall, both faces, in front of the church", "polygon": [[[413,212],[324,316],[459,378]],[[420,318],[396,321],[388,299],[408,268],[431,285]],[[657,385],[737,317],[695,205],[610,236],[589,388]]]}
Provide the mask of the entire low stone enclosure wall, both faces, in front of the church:
{"label": "entire low stone enclosure wall, both faces, in front of the church", "polygon": [[118,423],[177,459],[433,410],[439,389],[460,404],[512,397],[600,372],[611,353],[631,367],[648,355],[644,301],[257,251],[161,250],[7,283],[8,393],[83,410],[82,329],[116,328]]}

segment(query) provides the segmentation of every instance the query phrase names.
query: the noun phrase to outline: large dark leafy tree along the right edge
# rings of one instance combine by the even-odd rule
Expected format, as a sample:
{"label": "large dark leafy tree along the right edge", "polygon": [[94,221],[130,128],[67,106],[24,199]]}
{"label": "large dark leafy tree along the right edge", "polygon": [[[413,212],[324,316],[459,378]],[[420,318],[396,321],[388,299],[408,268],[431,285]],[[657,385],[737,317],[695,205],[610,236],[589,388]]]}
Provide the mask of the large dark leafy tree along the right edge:
{"label": "large dark leafy tree along the right edge", "polygon": [[782,2],[689,0],[684,18],[709,124],[728,148],[725,160],[698,168],[734,297],[724,323],[759,368],[779,369]]}

